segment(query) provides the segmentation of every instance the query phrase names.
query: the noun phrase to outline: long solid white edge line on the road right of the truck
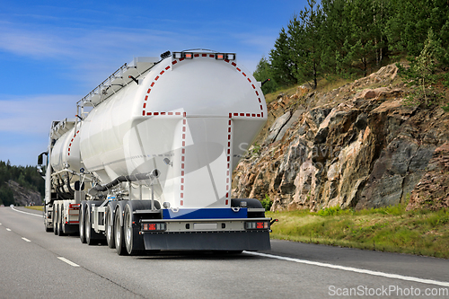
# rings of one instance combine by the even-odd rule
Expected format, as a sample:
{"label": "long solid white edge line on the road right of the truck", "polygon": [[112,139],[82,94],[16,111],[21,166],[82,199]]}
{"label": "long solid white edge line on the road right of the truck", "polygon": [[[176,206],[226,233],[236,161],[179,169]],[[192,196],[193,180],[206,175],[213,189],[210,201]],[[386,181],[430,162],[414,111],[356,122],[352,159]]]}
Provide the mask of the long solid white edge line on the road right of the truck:
{"label": "long solid white edge line on the road right of the truck", "polygon": [[287,257],[281,257],[277,255],[267,254],[267,253],[260,253],[260,252],[253,252],[253,251],[244,251],[247,254],[252,255],[258,255],[260,257],[265,258],[271,258],[271,259],[282,259],[287,261],[294,261],[296,263],[302,263],[307,265],[313,265],[313,266],[319,266],[319,267],[326,267],[326,268],[336,268],[339,270],[345,270],[345,271],[351,271],[351,272],[357,272],[357,273],[363,273],[368,275],[374,275],[377,277],[388,277],[388,278],[395,278],[395,279],[401,279],[406,281],[413,281],[418,282],[422,284],[429,284],[429,285],[436,285],[436,286],[449,286],[449,282],[445,281],[437,281],[437,280],[431,280],[431,279],[422,279],[418,277],[404,277],[397,274],[390,274],[390,273],[383,273],[379,271],[371,271],[371,270],[365,270],[362,268],[352,268],[352,267],[344,267],[344,266],[338,266],[338,265],[332,265],[332,264],[326,264],[321,263],[318,261],[311,261],[311,260],[305,260],[305,259],[293,259],[293,258],[287,258]]}

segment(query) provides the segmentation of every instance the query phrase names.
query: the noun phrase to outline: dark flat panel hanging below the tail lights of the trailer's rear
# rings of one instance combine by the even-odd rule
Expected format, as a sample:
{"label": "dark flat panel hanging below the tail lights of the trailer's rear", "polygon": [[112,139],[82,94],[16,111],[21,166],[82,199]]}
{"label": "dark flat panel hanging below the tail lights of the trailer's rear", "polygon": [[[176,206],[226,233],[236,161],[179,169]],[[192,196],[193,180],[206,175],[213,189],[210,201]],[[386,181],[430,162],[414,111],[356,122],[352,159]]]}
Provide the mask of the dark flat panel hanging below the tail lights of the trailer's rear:
{"label": "dark flat panel hanging below the tail lights of the trailer's rear", "polygon": [[269,251],[268,231],[144,233],[145,250]]}

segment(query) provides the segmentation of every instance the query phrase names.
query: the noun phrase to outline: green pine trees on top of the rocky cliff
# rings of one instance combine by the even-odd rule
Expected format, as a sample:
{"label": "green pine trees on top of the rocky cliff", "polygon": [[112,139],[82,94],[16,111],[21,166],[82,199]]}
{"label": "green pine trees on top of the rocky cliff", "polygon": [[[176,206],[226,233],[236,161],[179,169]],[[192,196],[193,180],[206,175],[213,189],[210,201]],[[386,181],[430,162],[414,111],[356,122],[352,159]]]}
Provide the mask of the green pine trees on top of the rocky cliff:
{"label": "green pine trees on top of the rocky cliff", "polygon": [[429,58],[435,63],[431,71],[445,70],[448,0],[307,0],[281,28],[254,77],[271,79],[262,86],[266,93],[304,83],[315,89],[324,75],[365,76],[387,59],[422,55],[426,44],[435,47]]}

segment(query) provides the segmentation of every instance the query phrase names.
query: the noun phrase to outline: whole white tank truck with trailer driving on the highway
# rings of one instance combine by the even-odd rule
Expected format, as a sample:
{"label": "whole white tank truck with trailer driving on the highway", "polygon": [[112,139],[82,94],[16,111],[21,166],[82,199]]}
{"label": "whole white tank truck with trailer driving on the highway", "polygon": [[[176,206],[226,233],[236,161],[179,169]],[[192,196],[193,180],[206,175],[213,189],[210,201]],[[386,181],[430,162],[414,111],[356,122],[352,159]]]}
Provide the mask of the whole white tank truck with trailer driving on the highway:
{"label": "whole white tank truck with trailer driving on the highway", "polygon": [[46,230],[119,255],[269,250],[275,220],[259,200],[231,198],[233,169],[267,120],[260,86],[234,53],[121,66],[51,125],[38,159]]}

